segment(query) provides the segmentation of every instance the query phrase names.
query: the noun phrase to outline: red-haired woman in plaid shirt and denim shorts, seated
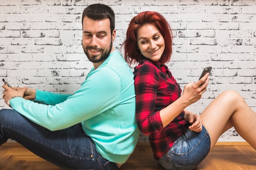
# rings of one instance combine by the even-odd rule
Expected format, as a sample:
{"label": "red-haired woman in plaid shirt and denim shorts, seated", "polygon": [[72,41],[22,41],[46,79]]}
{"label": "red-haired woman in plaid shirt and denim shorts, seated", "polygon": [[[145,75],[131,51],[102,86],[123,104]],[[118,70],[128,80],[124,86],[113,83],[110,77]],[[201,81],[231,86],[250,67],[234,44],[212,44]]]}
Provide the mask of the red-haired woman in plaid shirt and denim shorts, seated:
{"label": "red-haired woman in plaid shirt and denim shorts, seated", "polygon": [[139,63],[134,69],[137,124],[165,169],[193,169],[233,126],[256,149],[256,113],[237,92],[221,93],[201,115],[185,110],[207,90],[209,73],[186,84],[181,95],[164,65],[171,57],[172,34],[161,14],[146,11],[132,18],[122,46],[126,62]]}

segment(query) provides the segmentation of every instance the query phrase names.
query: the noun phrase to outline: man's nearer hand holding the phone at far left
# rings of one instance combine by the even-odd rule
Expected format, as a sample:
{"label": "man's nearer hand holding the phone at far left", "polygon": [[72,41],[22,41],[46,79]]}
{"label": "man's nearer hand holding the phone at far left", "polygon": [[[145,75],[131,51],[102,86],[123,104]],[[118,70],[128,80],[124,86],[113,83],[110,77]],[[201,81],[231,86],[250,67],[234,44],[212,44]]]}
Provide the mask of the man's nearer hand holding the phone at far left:
{"label": "man's nearer hand holding the phone at far left", "polygon": [[2,86],[4,88],[4,91],[3,91],[3,98],[4,98],[4,102],[7,104],[8,100],[11,98],[11,97],[14,97],[14,96],[20,96],[20,97],[23,97],[24,96],[24,93],[27,91],[27,87],[23,87],[23,88],[20,88],[19,90],[14,90],[12,88],[9,88],[7,85],[3,85]]}

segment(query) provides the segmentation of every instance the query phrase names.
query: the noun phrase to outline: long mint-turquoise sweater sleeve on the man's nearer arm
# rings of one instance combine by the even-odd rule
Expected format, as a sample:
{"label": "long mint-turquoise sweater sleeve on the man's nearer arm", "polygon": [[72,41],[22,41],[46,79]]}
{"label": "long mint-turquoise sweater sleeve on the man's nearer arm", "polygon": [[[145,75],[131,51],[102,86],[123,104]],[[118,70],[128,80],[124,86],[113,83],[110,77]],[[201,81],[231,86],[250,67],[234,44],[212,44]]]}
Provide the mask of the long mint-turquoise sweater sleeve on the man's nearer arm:
{"label": "long mint-turquoise sweater sleeve on the man's nearer arm", "polygon": [[21,97],[11,99],[12,108],[49,130],[60,130],[80,123],[115,106],[120,99],[121,79],[111,68],[98,68],[81,88],[64,102],[38,104]]}

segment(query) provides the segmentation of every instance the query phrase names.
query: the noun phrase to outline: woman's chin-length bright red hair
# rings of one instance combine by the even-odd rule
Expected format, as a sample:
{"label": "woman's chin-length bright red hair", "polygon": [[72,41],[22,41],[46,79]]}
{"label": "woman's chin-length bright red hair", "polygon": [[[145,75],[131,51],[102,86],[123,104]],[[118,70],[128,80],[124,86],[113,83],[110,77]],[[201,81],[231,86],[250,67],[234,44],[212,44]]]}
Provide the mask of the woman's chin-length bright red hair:
{"label": "woman's chin-length bright red hair", "polygon": [[121,48],[124,47],[124,59],[128,64],[139,62],[141,55],[137,49],[137,32],[145,24],[155,25],[164,38],[165,49],[159,62],[166,64],[170,61],[172,54],[172,32],[171,27],[163,15],[153,11],[144,11],[133,17],[126,32],[126,39]]}

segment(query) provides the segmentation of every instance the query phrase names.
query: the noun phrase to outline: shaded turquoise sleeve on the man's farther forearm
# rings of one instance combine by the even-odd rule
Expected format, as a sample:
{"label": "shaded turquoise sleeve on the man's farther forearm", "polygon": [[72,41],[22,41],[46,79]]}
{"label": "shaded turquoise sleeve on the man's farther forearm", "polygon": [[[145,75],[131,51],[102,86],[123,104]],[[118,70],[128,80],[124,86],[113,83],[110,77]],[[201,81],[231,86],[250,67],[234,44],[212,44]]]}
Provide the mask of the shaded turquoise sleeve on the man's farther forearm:
{"label": "shaded turquoise sleeve on the man's farther forearm", "polygon": [[41,104],[56,105],[64,102],[70,96],[71,94],[52,93],[36,89],[36,99],[33,101]]}

